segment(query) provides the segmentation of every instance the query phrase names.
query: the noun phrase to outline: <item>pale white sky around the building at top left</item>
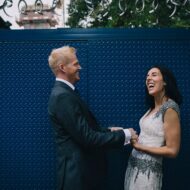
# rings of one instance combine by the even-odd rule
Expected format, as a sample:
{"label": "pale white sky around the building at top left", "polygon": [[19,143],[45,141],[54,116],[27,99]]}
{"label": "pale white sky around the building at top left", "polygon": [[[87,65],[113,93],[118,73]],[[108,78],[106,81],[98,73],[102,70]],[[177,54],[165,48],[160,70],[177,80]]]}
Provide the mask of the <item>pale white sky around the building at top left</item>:
{"label": "pale white sky around the building at top left", "polygon": [[[3,4],[5,0],[0,0],[0,6]],[[13,5],[10,8],[5,8],[6,12],[11,15],[11,17],[8,17],[3,10],[0,10],[0,16],[3,18],[4,21],[8,21],[12,24],[11,29],[22,29],[18,26],[18,24],[16,23],[16,18],[18,18],[19,16],[19,11],[18,11],[18,2],[19,0],[12,0],[13,1]],[[26,3],[28,5],[34,5],[35,4],[35,0],[25,0]],[[49,6],[52,5],[53,0],[41,0],[43,4],[48,4]],[[69,4],[70,0],[64,0],[64,4],[65,4],[65,20],[68,17],[67,14],[67,5]],[[57,13],[60,14],[61,10],[57,10]],[[62,17],[61,17],[62,18]],[[60,19],[61,20],[61,19]],[[61,21],[60,21],[60,25],[61,25]]]}

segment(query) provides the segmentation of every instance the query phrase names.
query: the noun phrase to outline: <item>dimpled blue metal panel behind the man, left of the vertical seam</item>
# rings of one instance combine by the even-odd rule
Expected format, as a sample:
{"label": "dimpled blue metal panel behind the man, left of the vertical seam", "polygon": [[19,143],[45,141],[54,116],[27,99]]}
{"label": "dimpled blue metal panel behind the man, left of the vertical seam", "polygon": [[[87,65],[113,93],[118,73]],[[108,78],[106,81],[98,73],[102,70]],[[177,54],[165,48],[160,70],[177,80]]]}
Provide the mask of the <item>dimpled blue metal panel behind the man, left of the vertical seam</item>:
{"label": "dimpled blue metal panel behind the man, left of the vertical seam", "polygon": [[0,189],[54,189],[55,151],[47,115],[54,76],[47,60],[53,48],[68,43],[79,49],[85,65],[86,43],[1,43]]}

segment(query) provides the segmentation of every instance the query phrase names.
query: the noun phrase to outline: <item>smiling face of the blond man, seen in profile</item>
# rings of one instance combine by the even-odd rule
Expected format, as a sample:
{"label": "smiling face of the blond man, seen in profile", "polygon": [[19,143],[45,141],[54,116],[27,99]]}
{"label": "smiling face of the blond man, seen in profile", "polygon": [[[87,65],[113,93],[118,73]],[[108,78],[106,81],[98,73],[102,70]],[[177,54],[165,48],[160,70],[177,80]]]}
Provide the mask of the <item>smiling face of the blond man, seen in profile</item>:
{"label": "smiling face of the blond man, seen in profile", "polygon": [[80,80],[79,71],[81,66],[75,54],[71,54],[69,57],[70,61],[64,66],[64,70],[68,81],[74,84]]}

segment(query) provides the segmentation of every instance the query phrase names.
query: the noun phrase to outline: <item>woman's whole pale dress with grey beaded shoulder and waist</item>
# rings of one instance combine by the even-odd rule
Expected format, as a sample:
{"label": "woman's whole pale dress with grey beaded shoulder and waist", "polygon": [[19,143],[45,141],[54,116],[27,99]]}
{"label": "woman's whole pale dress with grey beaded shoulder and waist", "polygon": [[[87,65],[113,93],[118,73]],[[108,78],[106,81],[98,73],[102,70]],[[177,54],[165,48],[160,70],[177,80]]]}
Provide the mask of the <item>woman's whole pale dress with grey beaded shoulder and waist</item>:
{"label": "woman's whole pale dress with grey beaded shoulder and waist", "polygon": [[[179,106],[171,99],[160,110],[140,119],[139,143],[150,147],[164,145],[163,117],[168,108],[179,114]],[[125,174],[125,190],[160,190],[162,187],[162,157],[132,150]]]}

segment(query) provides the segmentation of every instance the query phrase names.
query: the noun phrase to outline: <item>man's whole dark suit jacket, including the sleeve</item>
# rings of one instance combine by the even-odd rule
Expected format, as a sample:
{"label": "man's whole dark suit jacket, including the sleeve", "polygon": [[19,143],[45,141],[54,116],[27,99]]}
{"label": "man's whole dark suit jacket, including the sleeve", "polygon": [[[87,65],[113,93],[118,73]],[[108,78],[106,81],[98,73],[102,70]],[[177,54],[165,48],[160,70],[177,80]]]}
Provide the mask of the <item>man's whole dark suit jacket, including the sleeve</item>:
{"label": "man's whole dark suit jacket, including the sleeve", "polygon": [[57,190],[101,190],[105,149],[122,147],[123,131],[101,129],[79,95],[56,81],[48,112],[57,147]]}

